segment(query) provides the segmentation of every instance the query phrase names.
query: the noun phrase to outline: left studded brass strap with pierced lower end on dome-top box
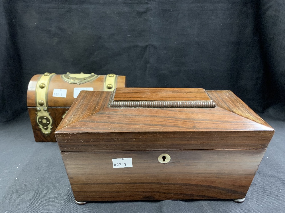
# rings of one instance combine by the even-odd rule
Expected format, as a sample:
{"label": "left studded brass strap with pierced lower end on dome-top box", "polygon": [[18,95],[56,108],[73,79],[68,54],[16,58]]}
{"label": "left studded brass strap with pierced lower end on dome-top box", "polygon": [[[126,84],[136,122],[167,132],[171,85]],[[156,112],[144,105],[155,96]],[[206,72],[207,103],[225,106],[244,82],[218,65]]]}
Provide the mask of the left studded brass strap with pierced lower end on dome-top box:
{"label": "left studded brass strap with pierced lower end on dome-top box", "polygon": [[52,132],[52,117],[48,112],[48,85],[55,73],[44,73],[36,85],[36,122],[42,133],[48,136]]}

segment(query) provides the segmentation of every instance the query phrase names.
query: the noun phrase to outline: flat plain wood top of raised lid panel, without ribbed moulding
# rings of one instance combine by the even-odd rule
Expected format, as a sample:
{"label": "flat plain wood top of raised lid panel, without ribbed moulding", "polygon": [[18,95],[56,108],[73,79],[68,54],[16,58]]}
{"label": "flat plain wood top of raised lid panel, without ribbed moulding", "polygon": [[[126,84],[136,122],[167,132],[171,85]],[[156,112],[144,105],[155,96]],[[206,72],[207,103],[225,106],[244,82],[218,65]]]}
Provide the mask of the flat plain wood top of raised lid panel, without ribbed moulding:
{"label": "flat plain wood top of raised lid panel, without ribbed moulding", "polygon": [[119,88],[114,101],[211,101],[200,88]]}

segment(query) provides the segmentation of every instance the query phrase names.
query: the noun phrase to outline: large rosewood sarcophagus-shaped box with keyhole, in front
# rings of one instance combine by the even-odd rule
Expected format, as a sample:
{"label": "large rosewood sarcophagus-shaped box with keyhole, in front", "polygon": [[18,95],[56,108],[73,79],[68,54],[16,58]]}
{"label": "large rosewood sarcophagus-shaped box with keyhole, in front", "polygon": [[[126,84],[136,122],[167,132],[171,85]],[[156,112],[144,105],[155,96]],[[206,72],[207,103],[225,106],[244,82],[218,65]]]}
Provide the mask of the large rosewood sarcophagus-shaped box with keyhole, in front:
{"label": "large rosewood sarcophagus-shaped box with keyhole, in front", "polygon": [[82,91],[56,130],[76,201],[243,199],[274,129],[231,91]]}

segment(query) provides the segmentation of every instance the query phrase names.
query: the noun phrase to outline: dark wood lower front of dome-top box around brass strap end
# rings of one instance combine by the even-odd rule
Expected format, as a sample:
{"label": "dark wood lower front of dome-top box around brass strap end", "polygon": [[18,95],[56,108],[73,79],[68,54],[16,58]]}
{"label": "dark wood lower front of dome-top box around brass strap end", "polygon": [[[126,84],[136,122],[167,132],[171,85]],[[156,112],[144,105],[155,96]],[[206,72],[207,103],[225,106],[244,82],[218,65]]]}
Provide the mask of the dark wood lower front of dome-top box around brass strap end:
{"label": "dark wood lower front of dome-top box around brass strap end", "polygon": [[28,112],[30,115],[30,120],[32,124],[32,130],[34,133],[34,138],[36,142],[56,142],[54,132],[62,120],[62,116],[68,111],[69,107],[48,107],[48,112],[52,117],[52,129],[51,133],[46,136],[42,130],[39,128],[36,121],[36,107],[28,107]]}

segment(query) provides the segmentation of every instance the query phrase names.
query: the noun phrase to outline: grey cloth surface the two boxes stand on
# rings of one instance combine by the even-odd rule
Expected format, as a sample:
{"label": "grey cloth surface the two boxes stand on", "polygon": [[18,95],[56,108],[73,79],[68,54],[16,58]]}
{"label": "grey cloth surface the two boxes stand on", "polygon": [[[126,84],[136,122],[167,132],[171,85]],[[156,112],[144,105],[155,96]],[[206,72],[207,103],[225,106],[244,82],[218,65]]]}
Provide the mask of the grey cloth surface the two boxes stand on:
{"label": "grey cloth surface the two boxes stand on", "polygon": [[285,122],[262,117],[275,134],[245,202],[74,201],[57,143],[36,143],[28,113],[0,124],[0,212],[285,212]]}

